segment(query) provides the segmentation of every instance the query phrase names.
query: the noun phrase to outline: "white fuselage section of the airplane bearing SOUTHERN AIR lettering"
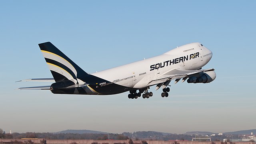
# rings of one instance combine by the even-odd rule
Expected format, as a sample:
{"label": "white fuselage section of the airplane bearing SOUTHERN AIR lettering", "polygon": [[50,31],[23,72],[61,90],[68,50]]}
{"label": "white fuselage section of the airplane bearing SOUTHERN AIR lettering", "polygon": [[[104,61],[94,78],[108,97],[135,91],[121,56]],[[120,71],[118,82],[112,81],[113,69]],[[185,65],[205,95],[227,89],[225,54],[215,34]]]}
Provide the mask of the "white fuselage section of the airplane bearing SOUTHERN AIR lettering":
{"label": "white fuselage section of the airplane bearing SOUTHERN AIR lettering", "polygon": [[196,42],[174,48],[164,54],[118,66],[91,75],[130,87],[146,88],[158,76],[172,69],[196,70],[206,65],[212,52]]}

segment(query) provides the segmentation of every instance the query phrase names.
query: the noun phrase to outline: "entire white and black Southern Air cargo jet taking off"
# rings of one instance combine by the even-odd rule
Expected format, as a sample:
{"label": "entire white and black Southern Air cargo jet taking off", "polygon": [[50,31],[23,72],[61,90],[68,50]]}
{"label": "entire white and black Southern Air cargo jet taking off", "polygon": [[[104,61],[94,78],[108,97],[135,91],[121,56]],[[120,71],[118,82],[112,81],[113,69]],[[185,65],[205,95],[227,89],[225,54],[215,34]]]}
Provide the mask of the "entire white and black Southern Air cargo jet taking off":
{"label": "entire white and black Southern Air cargo jet taking off", "polygon": [[[128,98],[150,98],[150,86],[162,89],[168,97],[170,82],[182,79],[188,83],[210,83],[216,78],[214,69],[204,69],[212,51],[195,42],[177,46],[164,54],[100,72],[87,73],[51,42],[38,44],[53,78],[31,78],[20,81],[54,82],[50,86],[18,88],[50,90],[53,94],[112,95],[129,91]],[[18,82],[20,82],[18,81]]]}

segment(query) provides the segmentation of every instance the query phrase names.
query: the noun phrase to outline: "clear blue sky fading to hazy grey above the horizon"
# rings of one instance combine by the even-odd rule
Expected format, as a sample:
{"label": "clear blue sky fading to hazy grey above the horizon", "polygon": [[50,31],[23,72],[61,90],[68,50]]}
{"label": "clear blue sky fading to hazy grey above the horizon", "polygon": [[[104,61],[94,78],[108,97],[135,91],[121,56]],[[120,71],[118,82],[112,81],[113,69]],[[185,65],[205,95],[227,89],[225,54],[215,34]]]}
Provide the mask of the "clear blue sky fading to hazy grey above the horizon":
{"label": "clear blue sky fading to hazy grey above the horizon", "polygon": [[[256,1],[0,1],[0,128],[9,132],[88,129],[229,132],[256,128]],[[168,98],[58,95],[15,90],[48,83],[38,47],[52,42],[92,73],[191,42],[212,50],[210,84],[171,84]]]}

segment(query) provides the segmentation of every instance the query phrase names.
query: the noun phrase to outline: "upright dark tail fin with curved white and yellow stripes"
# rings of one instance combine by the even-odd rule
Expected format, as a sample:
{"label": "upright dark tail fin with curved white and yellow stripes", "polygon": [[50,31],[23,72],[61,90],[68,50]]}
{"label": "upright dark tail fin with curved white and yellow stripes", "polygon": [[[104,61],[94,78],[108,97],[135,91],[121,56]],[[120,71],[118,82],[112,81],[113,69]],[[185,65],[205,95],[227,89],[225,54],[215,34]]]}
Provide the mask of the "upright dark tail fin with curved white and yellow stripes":
{"label": "upright dark tail fin with curved white and yellow stripes", "polygon": [[87,75],[82,68],[70,60],[51,42],[44,42],[38,45],[43,53],[46,63],[50,68],[55,82],[72,80],[75,84],[77,84],[77,78]]}

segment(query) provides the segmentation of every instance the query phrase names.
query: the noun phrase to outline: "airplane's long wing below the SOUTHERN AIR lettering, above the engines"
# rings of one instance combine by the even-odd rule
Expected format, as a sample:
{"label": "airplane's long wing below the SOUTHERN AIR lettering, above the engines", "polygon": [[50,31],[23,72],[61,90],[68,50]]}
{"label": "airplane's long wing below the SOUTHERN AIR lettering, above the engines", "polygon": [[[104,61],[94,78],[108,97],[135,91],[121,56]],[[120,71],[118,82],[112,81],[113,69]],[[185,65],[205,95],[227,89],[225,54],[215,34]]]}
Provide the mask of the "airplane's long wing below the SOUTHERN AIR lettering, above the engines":
{"label": "airplane's long wing below the SOUTHERN AIR lettering, above the engines", "polygon": [[174,80],[179,78],[185,78],[189,77],[192,74],[197,74],[200,72],[208,72],[208,71],[214,71],[213,68],[211,69],[205,69],[205,70],[179,70],[179,69],[173,69],[170,70],[160,76],[158,76],[156,79],[152,80],[148,85],[152,86],[155,84],[160,84],[163,82],[166,82],[168,80]]}

